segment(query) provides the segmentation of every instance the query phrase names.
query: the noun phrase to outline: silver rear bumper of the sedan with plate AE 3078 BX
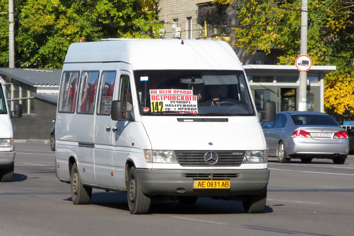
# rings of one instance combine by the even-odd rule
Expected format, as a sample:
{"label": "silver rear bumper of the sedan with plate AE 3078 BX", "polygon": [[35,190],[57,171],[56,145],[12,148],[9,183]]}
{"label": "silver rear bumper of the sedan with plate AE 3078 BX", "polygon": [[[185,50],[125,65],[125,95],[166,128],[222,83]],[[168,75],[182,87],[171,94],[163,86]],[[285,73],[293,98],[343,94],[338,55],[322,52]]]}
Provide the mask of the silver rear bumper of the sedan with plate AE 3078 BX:
{"label": "silver rear bumper of the sedan with plate AE 3078 BX", "polygon": [[291,155],[312,155],[312,156],[340,156],[348,155],[349,141],[342,139],[339,143],[306,143],[301,138],[290,138],[285,146],[286,154]]}

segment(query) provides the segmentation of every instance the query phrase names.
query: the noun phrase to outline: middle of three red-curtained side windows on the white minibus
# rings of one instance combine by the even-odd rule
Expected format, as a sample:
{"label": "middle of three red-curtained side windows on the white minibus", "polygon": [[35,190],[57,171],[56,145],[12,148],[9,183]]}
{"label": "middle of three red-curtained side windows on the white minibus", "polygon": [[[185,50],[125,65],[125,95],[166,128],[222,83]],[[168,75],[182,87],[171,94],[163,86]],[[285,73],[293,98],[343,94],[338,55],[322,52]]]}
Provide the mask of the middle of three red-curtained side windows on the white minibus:
{"label": "middle of three red-curtained side windows on the white minibus", "polygon": [[90,113],[95,111],[95,98],[98,83],[98,71],[82,71],[77,113]]}

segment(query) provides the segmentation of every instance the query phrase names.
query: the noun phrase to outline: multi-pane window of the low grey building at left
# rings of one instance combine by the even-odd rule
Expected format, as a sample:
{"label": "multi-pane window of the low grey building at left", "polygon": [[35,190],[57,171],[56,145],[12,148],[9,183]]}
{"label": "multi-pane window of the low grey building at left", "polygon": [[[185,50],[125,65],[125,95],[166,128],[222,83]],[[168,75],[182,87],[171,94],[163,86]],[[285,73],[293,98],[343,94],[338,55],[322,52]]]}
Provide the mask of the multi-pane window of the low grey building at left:
{"label": "multi-pane window of the low grey building at left", "polygon": [[15,104],[22,104],[22,114],[34,114],[32,93],[36,92],[36,88],[5,75],[1,75],[1,78],[9,110],[14,110]]}

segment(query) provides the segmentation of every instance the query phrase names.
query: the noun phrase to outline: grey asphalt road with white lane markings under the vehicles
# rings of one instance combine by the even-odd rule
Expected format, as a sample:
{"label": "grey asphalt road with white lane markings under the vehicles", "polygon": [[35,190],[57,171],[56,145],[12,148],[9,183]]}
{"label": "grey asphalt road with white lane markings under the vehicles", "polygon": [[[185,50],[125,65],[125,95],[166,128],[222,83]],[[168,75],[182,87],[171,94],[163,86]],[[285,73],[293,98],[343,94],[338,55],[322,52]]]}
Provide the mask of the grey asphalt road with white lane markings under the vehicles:
{"label": "grey asphalt road with white lane markings under the vehicles", "polygon": [[116,192],[93,190],[90,205],[73,205],[49,145],[15,149],[14,180],[0,183],[0,235],[354,235],[354,156],[344,165],[271,159],[263,214],[202,197],[195,205],[153,202],[150,214],[131,215],[126,194]]}

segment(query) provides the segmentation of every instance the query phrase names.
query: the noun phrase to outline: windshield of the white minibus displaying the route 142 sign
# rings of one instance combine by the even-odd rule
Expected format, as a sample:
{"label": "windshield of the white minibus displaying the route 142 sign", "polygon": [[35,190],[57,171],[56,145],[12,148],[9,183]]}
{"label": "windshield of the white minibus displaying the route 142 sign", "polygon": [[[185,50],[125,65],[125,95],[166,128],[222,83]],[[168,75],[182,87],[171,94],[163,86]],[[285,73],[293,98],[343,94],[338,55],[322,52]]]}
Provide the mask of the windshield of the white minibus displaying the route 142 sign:
{"label": "windshield of the white minibus displaying the route 142 sign", "polygon": [[243,71],[136,70],[142,115],[253,116]]}

